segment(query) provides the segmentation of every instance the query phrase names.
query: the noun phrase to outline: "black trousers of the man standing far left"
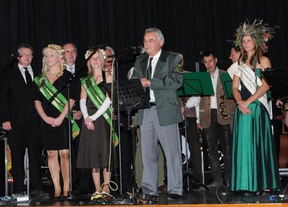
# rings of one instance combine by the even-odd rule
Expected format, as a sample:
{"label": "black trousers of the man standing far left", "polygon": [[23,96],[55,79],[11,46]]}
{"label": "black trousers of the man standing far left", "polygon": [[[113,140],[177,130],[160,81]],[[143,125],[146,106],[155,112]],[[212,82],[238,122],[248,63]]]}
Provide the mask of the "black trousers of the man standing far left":
{"label": "black trousers of the man standing far left", "polygon": [[38,126],[12,126],[8,133],[8,144],[12,158],[12,176],[14,192],[24,192],[24,155],[28,148],[29,178],[31,190],[40,190],[40,155],[42,152],[42,137]]}

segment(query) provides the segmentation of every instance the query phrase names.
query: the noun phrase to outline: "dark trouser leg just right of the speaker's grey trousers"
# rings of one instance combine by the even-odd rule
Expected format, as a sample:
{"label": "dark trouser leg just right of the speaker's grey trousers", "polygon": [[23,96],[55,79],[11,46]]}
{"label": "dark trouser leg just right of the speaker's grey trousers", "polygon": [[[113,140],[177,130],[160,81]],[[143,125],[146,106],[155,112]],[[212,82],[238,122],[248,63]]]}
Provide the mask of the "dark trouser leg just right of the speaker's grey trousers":
{"label": "dark trouser leg just right of the speaker's grey trousers", "polygon": [[186,117],[187,141],[191,153],[192,169],[195,178],[202,183],[202,156],[199,141],[199,133],[195,117]]}

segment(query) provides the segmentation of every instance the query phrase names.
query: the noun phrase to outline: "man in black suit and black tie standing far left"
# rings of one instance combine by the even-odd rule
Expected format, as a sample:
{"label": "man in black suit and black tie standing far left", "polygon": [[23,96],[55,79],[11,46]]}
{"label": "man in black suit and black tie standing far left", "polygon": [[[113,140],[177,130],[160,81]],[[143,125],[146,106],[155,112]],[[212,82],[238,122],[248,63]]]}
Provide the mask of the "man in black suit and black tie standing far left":
{"label": "man in black suit and black tie standing far left", "polygon": [[[11,149],[13,187],[16,194],[24,194],[24,155],[28,148],[31,196],[47,197],[40,183],[40,155],[42,137],[39,117],[34,107],[35,71],[31,68],[33,51],[30,45],[22,44],[17,50],[17,66],[8,68],[1,85],[0,116],[4,130],[8,131]],[[26,192],[27,193],[27,192]]]}

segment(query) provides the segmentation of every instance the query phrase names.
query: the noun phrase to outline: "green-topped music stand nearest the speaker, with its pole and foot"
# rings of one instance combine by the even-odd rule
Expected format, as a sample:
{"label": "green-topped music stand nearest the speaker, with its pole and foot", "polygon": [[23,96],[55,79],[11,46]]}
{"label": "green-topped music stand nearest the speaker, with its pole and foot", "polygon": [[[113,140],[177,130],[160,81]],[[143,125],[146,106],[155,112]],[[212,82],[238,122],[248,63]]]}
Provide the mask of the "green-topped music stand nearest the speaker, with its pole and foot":
{"label": "green-topped music stand nearest the speaker, with its pole and foot", "polygon": [[[182,96],[185,106],[186,95],[214,95],[213,84],[209,72],[185,72],[183,74],[183,85],[178,91],[178,95]],[[187,139],[187,123],[186,123],[186,110],[184,112],[184,130],[185,137]],[[186,158],[188,158],[188,141],[185,142]],[[192,178],[197,185],[201,185],[206,190],[210,190],[209,187],[204,185],[202,181],[199,181],[189,172],[188,160],[186,161],[186,173],[183,175],[183,179],[187,178],[187,191],[190,191],[190,181]]]}

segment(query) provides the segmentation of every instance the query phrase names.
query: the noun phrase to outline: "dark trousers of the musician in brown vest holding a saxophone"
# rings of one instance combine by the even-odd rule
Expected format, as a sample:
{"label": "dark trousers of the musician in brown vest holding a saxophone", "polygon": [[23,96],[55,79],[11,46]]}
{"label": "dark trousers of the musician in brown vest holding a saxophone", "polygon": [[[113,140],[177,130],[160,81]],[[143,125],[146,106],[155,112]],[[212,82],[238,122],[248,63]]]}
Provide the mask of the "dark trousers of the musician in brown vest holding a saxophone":
{"label": "dark trousers of the musician in brown vest holding a saxophone", "polygon": [[209,162],[211,166],[211,176],[215,181],[222,181],[221,167],[218,155],[218,138],[224,155],[225,181],[230,181],[231,167],[231,144],[232,135],[230,125],[220,125],[218,123],[217,109],[211,109],[211,125],[204,129],[206,141],[209,147]]}

